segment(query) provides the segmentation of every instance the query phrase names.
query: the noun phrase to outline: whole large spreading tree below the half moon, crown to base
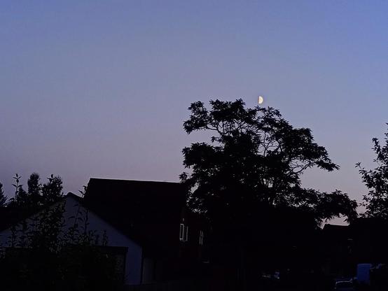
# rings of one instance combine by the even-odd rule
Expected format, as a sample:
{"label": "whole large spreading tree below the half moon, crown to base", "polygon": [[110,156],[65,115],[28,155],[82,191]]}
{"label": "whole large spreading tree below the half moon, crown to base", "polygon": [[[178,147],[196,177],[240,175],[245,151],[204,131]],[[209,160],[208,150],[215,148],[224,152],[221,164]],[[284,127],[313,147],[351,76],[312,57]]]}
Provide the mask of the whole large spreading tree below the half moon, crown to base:
{"label": "whole large spreading tree below the half moon, crown to base", "polygon": [[209,142],[183,148],[190,173],[180,178],[188,206],[211,224],[213,262],[237,268],[239,290],[253,287],[266,266],[311,266],[319,257],[318,226],[339,215],[356,218],[357,204],[338,190],[304,189],[300,176],[338,165],[310,129],[293,127],[274,108],[245,108],[242,99],[210,106],[197,101],[188,108],[185,131],[207,132]]}

